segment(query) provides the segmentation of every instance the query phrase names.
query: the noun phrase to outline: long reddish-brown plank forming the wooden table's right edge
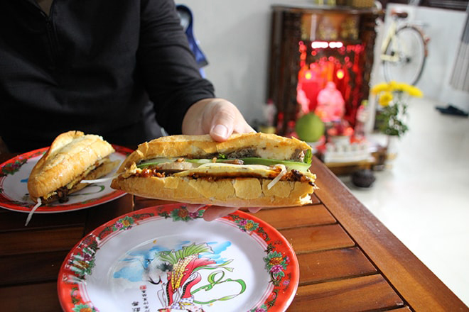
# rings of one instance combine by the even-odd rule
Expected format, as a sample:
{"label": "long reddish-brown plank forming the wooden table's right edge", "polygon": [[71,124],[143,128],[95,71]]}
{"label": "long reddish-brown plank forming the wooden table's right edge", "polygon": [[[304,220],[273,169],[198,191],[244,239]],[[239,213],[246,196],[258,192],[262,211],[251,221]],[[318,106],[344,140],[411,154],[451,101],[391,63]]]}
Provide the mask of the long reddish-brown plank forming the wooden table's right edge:
{"label": "long reddish-brown plank forming the wooden table's right edge", "polygon": [[465,303],[316,157],[311,168],[320,188],[316,196],[412,308],[416,311],[429,311],[430,307],[441,311],[469,311]]}

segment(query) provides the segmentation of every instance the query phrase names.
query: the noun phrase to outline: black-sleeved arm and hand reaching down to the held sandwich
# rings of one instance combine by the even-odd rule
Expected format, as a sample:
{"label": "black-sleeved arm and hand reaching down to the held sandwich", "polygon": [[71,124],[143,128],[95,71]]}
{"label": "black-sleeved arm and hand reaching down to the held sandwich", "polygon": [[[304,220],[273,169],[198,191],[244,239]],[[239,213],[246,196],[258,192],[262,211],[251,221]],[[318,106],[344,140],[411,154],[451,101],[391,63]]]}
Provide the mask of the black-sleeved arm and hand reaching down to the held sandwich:
{"label": "black-sleeved arm and hand reaching down to the held sandwich", "polygon": [[169,134],[206,134],[218,141],[254,131],[236,106],[216,99],[180,26],[173,0],[142,0],[137,61],[158,123]]}

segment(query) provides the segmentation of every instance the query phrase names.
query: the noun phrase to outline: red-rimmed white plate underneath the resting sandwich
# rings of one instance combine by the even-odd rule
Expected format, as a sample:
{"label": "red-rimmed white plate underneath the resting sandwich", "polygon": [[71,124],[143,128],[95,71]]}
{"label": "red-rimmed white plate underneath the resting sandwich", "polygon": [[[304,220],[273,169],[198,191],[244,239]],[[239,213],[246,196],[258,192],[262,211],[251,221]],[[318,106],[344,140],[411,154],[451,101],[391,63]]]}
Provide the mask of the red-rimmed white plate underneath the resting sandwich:
{"label": "red-rimmed white plate underneath the resting sandwich", "polygon": [[[111,160],[124,161],[132,152],[126,147],[112,145],[114,152]],[[36,162],[47,152],[48,147],[26,152],[0,165],[0,207],[30,212],[34,202],[28,197],[28,177]],[[117,170],[117,169],[116,169]],[[109,174],[112,175],[112,174]],[[37,208],[35,213],[58,213],[97,206],[124,196],[123,191],[112,189],[111,181],[94,183],[74,194],[70,194],[66,203],[55,201]]]}

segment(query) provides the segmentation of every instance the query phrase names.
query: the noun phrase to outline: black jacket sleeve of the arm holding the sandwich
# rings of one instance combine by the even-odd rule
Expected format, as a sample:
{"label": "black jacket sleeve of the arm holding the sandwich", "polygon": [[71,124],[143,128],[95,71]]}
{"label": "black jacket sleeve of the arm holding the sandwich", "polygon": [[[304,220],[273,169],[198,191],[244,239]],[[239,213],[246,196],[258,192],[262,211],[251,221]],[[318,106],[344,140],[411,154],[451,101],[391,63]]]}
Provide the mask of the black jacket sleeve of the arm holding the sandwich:
{"label": "black jacket sleeve of the arm holding the sandwich", "polygon": [[212,84],[200,75],[173,0],[141,0],[137,68],[156,119],[169,134],[181,133],[192,104],[214,97]]}

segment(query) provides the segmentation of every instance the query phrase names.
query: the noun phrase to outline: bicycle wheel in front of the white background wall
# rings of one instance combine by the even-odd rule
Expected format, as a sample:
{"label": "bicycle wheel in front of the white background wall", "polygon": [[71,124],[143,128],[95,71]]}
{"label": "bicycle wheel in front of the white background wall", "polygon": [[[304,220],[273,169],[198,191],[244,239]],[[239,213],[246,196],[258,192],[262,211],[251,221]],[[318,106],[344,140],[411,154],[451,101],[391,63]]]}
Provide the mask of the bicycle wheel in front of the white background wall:
{"label": "bicycle wheel in front of the white background wall", "polygon": [[[394,43],[393,43],[394,40]],[[414,26],[404,26],[397,30],[396,35],[386,48],[388,56],[382,61],[384,79],[416,84],[426,60],[426,42],[421,31]]]}

